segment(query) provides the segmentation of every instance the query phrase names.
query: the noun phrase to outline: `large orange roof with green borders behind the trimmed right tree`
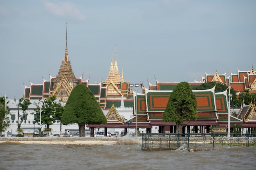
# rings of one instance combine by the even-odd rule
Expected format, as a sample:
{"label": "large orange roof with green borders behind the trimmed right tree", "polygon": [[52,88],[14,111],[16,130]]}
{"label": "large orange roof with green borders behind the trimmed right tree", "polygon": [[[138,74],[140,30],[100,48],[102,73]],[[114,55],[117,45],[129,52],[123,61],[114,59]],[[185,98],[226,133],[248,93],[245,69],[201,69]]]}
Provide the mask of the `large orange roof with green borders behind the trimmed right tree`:
{"label": "large orange roof with green borders behind the trimmed right tree", "polygon": [[[168,99],[173,92],[173,89],[178,83],[158,82],[155,88],[146,89],[145,93],[133,93],[135,115],[138,115],[138,122],[153,125],[175,125],[172,122],[164,122],[162,120],[164,110],[167,106]],[[202,82],[189,83],[191,86],[198,86]],[[153,85],[150,84],[152,87]],[[171,90],[166,90],[171,89]],[[198,118],[196,121],[188,121],[188,125],[219,125],[225,126],[228,119],[228,97],[227,90],[220,93],[215,93],[215,87],[207,90],[193,90],[197,100]],[[241,123],[241,119],[231,116],[231,122]],[[136,121],[136,118],[133,119]],[[219,122],[220,121],[220,122]],[[222,123],[224,124],[222,125]]]}

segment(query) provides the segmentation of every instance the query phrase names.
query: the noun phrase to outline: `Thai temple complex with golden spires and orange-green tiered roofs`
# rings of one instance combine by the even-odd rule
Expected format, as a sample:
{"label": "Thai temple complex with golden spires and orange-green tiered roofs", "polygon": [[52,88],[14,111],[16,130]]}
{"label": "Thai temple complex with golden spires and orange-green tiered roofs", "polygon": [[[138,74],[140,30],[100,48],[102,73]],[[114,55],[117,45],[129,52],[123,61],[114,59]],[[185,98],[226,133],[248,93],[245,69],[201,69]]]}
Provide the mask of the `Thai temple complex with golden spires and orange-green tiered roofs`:
{"label": "Thai temple complex with golden spires and orange-green tiered roofs", "polygon": [[[87,125],[90,133],[95,134],[97,130],[105,132],[116,129],[124,130],[138,128],[141,132],[150,133],[174,133],[175,123],[164,122],[162,117],[169,96],[178,83],[159,82],[155,78],[155,83],[148,82],[148,87],[144,84],[135,84],[135,89],[128,81],[124,81],[123,68],[121,75],[117,66],[117,45],[115,45],[115,61],[113,61],[113,52],[111,51],[111,62],[108,76],[105,81],[90,84],[90,76],[83,80],[83,74],[76,77],[72,71],[71,62],[67,51],[67,28],[66,28],[66,46],[63,61],[56,77],[49,74],[49,80],[44,79],[42,84],[34,84],[29,80],[29,86],[24,84],[24,98],[33,101],[46,99],[55,95],[56,98],[65,105],[72,89],[77,84],[85,84],[96,97],[103,113],[107,118],[106,124]],[[106,74],[107,75],[107,74]],[[238,93],[248,89],[250,93],[256,93],[256,72],[254,68],[251,71],[239,71],[238,74],[232,74],[227,77],[226,73],[219,75],[209,75],[205,73],[202,81],[190,82],[191,88],[200,86],[204,82],[221,82],[231,86]],[[137,85],[137,86],[136,86]],[[141,92],[140,92],[140,91]],[[211,126],[227,128],[228,123],[228,91],[216,93],[215,87],[207,90],[193,90],[197,100],[198,118],[195,121],[184,122],[182,133],[208,133]],[[11,119],[13,129],[16,129],[17,113],[16,107],[11,105]],[[13,102],[12,102],[13,103]],[[32,113],[35,106],[30,106],[29,113]],[[23,128],[34,128],[31,122],[34,115],[26,117]],[[238,116],[230,115],[230,122],[233,124],[242,124],[245,131],[255,130],[256,128],[256,108],[255,105],[243,106],[238,111]],[[55,131],[59,131],[60,124],[51,125]],[[77,125],[63,126],[65,132],[78,129]]]}

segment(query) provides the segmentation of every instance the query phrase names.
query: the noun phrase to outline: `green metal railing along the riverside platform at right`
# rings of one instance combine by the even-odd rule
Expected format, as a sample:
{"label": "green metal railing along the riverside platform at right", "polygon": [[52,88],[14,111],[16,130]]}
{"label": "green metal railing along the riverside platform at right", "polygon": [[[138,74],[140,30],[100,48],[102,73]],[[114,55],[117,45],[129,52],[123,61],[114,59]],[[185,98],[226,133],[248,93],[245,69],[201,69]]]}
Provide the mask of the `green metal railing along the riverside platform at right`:
{"label": "green metal railing along the riverside platform at right", "polygon": [[147,133],[142,134],[142,148],[175,150],[177,148],[216,148],[256,145],[256,134],[227,133]]}

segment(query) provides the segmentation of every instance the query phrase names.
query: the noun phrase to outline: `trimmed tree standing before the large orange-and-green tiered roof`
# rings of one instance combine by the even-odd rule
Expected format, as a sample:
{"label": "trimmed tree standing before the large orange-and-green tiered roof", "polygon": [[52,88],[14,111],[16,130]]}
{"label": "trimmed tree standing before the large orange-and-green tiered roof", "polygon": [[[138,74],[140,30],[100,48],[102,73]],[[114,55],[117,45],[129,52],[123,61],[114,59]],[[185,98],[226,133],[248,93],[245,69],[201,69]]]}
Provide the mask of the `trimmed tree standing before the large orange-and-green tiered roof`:
{"label": "trimmed tree standing before the large orange-and-green tiered roof", "polygon": [[164,122],[175,122],[176,133],[182,131],[184,121],[196,120],[198,113],[197,102],[188,82],[180,82],[171,93],[166,109]]}

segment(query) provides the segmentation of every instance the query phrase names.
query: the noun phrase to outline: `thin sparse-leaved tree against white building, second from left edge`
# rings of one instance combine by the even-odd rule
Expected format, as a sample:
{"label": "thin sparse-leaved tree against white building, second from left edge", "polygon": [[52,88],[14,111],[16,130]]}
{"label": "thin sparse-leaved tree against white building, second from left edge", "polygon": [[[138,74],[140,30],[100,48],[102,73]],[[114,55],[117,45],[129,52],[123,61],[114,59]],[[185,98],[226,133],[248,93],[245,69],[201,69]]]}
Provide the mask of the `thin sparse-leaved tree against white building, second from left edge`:
{"label": "thin sparse-leaved tree against white building, second from left edge", "polygon": [[[29,108],[29,105],[31,104],[31,102],[29,101],[29,99],[24,99],[23,97],[19,99],[19,102],[17,104],[16,99],[14,98],[14,101],[16,103],[17,109],[18,109],[18,131],[20,131],[20,126],[22,124],[22,122],[25,120],[27,120],[27,109]],[[20,108],[22,110],[22,113],[20,113]]]}

